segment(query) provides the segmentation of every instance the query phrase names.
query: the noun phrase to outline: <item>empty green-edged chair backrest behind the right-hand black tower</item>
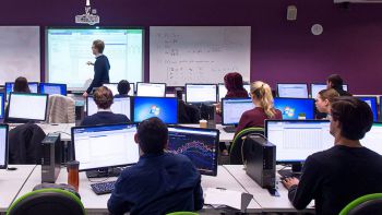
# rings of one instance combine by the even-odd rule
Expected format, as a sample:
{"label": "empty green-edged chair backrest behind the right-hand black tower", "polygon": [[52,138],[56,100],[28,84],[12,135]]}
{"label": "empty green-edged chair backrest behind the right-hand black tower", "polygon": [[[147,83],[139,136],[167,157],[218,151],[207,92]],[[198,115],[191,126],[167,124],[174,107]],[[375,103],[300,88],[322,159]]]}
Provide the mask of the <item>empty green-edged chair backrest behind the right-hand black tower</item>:
{"label": "empty green-edged chair backrest behind the right-hand black tower", "polygon": [[232,144],[229,151],[229,164],[231,165],[242,165],[242,144],[249,134],[259,133],[264,135],[263,128],[248,128],[243,129],[234,138]]}

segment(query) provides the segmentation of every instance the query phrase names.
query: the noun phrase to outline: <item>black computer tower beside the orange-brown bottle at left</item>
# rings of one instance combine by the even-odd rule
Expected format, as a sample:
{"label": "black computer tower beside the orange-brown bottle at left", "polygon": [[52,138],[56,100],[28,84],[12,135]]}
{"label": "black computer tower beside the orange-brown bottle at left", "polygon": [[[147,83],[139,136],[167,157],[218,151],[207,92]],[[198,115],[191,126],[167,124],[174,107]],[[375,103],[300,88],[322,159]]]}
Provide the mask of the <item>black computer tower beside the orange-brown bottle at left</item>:
{"label": "black computer tower beside the orange-brown bottle at left", "polygon": [[49,133],[41,142],[41,182],[55,183],[61,169],[61,139]]}

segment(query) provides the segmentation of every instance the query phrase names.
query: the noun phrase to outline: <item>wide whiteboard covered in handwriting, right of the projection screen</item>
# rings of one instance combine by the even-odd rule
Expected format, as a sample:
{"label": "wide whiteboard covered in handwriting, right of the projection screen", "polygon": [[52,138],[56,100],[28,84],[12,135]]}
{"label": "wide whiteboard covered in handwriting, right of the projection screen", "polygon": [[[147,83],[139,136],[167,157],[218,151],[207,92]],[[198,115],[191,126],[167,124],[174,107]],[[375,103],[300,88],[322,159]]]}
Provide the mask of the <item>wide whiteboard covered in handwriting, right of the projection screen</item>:
{"label": "wide whiteboard covered in handwriting, right of the projection screen", "polygon": [[228,72],[250,81],[250,26],[150,27],[151,82],[222,83]]}

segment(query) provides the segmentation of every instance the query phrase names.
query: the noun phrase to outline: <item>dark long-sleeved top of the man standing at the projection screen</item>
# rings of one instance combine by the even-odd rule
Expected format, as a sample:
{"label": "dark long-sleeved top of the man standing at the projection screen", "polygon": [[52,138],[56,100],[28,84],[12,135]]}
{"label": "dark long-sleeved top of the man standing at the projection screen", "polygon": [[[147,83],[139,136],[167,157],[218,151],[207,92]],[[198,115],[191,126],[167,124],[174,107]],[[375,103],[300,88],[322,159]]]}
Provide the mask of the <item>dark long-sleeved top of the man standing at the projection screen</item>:
{"label": "dark long-sleeved top of the man standing at the projection screen", "polygon": [[89,94],[94,87],[99,87],[103,84],[109,83],[110,63],[106,56],[102,55],[96,58],[94,62],[94,79],[88,86],[86,93]]}

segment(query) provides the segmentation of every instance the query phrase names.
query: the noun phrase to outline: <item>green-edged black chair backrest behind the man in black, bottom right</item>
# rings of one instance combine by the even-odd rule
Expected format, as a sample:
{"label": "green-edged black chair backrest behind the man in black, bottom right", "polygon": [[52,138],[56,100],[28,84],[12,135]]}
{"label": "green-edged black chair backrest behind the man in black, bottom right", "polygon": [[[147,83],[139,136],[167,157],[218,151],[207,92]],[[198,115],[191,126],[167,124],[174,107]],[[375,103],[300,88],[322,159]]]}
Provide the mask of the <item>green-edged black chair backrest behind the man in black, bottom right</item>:
{"label": "green-edged black chair backrest behind the man in black, bottom right", "polygon": [[360,196],[347,204],[339,215],[382,214],[382,193]]}

